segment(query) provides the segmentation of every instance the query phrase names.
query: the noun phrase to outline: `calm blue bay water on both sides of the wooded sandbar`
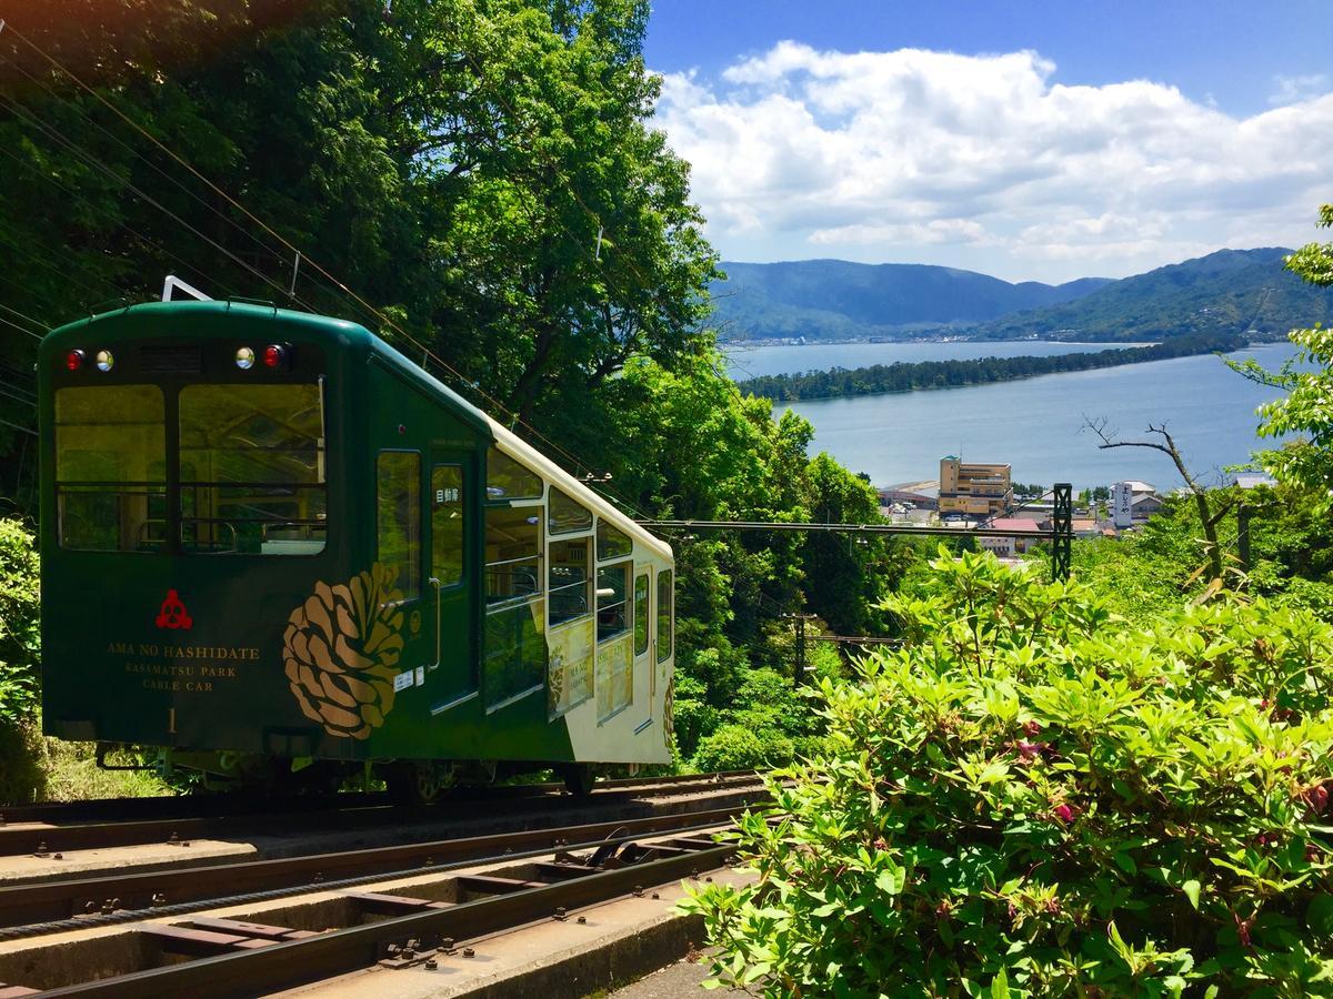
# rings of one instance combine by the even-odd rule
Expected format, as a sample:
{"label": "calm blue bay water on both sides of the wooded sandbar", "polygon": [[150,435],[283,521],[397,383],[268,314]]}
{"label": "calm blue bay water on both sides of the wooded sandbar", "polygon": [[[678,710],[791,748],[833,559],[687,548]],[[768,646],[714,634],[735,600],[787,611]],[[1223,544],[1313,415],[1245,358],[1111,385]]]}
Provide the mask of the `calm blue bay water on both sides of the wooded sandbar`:
{"label": "calm blue bay water on both sides of the wooded sandbar", "polygon": [[[910,346],[936,348],[934,356],[912,358],[925,361],[958,357],[954,349],[964,345]],[[1008,356],[1036,354],[1033,342],[1005,346],[1021,348]],[[806,356],[781,357],[790,365],[788,372],[829,368],[838,364],[828,361],[830,349],[785,348],[812,352],[808,362]],[[1274,369],[1294,353],[1292,344],[1264,344],[1229,357],[1252,357]],[[856,366],[881,362],[890,361],[860,361]],[[1144,433],[1148,424],[1165,424],[1190,470],[1205,482],[1221,484],[1228,478],[1225,466],[1244,464],[1250,452],[1272,446],[1254,434],[1254,410],[1280,394],[1246,381],[1216,356],[1201,354],[960,389],[805,400],[774,405],[773,412],[777,417],[789,406],[809,420],[814,425],[812,454],[826,450],[853,472],[866,473],[877,486],[937,478],[940,458],[958,454],[964,461],[1009,462],[1016,482],[1073,482],[1082,489],[1137,478],[1174,489],[1182,481],[1170,458],[1140,448],[1098,450],[1100,441],[1085,429],[1085,420],[1105,418],[1120,440],[1152,440]]]}

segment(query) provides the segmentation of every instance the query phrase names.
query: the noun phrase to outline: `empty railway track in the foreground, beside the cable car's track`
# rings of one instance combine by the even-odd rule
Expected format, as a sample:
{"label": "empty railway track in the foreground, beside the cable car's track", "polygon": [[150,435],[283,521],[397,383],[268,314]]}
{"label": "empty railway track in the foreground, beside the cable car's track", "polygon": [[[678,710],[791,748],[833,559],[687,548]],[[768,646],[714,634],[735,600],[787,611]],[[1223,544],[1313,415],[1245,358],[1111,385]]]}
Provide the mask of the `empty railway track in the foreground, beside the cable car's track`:
{"label": "empty railway track in the foreground, beside the cable car's track", "polygon": [[[636,786],[649,783],[664,782]],[[469,940],[722,864],[729,847],[710,831],[745,803],[696,798],[704,805],[643,819],[4,888],[0,999],[240,996],[377,963],[465,960]],[[487,864],[499,868],[479,871]]]}

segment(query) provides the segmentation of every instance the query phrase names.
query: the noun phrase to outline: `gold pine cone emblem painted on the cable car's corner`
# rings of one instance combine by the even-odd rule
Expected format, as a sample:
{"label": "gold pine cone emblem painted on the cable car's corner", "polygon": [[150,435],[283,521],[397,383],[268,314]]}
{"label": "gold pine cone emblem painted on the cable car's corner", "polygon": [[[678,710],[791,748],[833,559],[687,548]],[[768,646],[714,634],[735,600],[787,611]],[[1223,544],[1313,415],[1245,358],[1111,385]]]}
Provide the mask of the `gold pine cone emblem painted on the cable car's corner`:
{"label": "gold pine cone emblem painted on the cable car's corner", "polygon": [[364,739],[393,710],[403,654],[403,593],[393,570],[376,563],[347,585],[320,582],[292,611],[283,658],[305,717],[329,735]]}

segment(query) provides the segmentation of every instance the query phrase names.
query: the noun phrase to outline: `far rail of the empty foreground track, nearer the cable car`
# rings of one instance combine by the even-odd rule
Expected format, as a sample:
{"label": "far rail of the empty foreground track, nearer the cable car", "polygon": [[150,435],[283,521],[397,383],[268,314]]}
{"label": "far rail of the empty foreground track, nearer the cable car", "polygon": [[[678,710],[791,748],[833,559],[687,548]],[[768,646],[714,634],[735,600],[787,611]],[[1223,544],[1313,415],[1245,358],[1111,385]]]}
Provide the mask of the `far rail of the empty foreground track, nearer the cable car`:
{"label": "far rail of the empty foreground track, nearer the cable car", "polygon": [[[745,807],[764,805],[762,797],[733,802],[721,809],[685,810],[669,815],[640,819],[593,822],[556,829],[500,832],[465,839],[441,839],[431,843],[371,847],[341,852],[316,854],[277,860],[244,860],[240,863],[205,867],[176,867],[137,874],[103,875],[68,880],[35,882],[0,888],[0,939],[40,935],[29,931],[36,920],[55,923],[73,919],[80,927],[123,922],[101,914],[79,916],[80,908],[92,903],[101,910],[115,900],[116,908],[141,908],[137,918],[148,919],[168,914],[171,908],[196,900],[208,900],[211,907],[228,904],[229,896],[257,891],[296,888],[316,891],[329,882],[376,876],[380,879],[409,876],[445,870],[457,863],[477,863],[487,859],[516,859],[520,851],[547,852],[576,848],[569,844],[583,840],[639,838],[656,832],[676,832],[689,826],[709,826],[728,822]],[[152,911],[153,908],[161,911]],[[60,926],[41,928],[41,932],[76,928]]]}

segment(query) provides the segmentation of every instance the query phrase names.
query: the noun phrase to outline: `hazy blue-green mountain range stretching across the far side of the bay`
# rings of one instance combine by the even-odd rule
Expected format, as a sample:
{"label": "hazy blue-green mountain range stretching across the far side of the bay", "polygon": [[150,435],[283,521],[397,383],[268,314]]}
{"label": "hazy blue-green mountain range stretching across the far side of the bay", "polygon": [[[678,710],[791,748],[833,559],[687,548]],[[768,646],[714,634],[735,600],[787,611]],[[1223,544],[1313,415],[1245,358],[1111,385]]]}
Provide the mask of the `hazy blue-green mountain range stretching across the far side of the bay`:
{"label": "hazy blue-green mountain range stretching across the far side of the bay", "polygon": [[1328,321],[1333,292],[1282,269],[1281,248],[1218,250],[1118,281],[1009,284],[920,264],[724,262],[713,286],[724,340],[1166,340],[1189,333],[1282,334]]}

